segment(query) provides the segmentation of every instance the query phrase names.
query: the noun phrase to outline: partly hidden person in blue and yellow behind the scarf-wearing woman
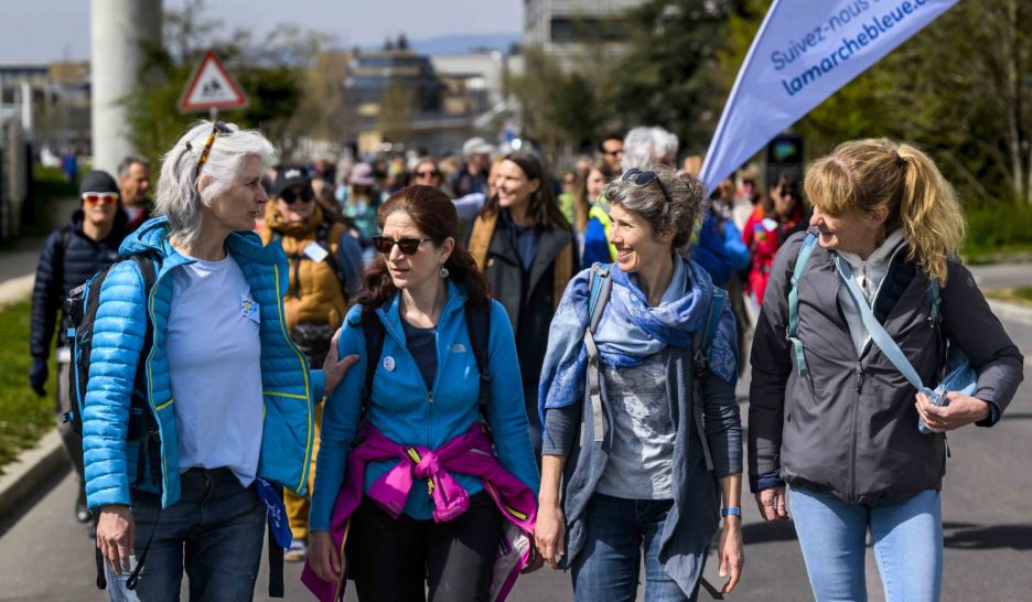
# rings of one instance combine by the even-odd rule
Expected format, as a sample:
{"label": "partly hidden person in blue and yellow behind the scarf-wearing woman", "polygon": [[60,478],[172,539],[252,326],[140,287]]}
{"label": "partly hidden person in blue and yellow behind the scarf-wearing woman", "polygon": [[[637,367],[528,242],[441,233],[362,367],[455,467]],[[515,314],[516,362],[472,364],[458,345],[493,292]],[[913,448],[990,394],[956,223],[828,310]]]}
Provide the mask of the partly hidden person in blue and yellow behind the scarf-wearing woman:
{"label": "partly hidden person in blue and yellow behind the scarf-wearing woman", "polygon": [[599,159],[588,168],[573,192],[573,228],[583,268],[590,268],[595,261],[616,261],[616,247],[610,243],[613,221],[609,216],[609,203],[602,196],[602,186],[614,175],[609,163]]}

